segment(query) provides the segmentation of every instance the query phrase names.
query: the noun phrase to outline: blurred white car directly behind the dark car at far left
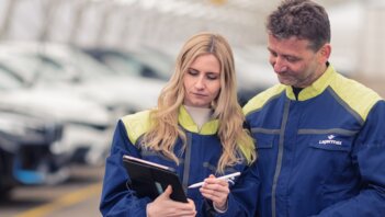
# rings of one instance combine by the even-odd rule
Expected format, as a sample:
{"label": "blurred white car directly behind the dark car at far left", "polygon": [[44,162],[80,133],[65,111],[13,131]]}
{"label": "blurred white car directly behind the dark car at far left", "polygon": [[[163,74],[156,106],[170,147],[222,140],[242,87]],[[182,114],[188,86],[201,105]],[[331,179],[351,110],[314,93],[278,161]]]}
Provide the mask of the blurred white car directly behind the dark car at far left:
{"label": "blurred white car directly behind the dark car at far left", "polygon": [[70,153],[73,162],[103,163],[113,128],[109,111],[70,91],[25,87],[15,75],[0,61],[0,105],[57,119],[65,127],[56,152]]}

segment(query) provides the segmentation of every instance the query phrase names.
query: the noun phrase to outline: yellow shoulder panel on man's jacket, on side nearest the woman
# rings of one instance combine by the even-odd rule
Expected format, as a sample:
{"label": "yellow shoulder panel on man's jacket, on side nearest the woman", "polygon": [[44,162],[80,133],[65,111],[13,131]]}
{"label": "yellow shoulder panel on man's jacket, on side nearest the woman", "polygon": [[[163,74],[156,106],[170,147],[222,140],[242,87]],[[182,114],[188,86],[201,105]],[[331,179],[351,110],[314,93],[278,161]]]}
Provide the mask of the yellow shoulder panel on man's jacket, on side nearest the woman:
{"label": "yellow shoulder panel on man's jacket, on side nearest the woman", "polygon": [[245,106],[244,114],[248,115],[249,113],[261,108],[267,102],[269,102],[274,96],[285,91],[285,85],[275,84],[268,90],[261,92],[260,94],[252,98]]}

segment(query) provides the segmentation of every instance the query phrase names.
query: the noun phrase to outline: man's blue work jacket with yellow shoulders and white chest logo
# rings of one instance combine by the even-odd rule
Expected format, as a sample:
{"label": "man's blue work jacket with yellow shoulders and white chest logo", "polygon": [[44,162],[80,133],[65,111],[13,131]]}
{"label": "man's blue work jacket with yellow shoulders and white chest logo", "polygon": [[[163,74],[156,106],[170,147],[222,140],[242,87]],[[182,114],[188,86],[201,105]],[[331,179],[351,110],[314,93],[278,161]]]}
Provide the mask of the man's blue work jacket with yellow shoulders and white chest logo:
{"label": "man's blue work jacket with yellow shoulders and white chest logo", "polygon": [[245,105],[258,216],[385,216],[385,102],[330,65],[297,99],[278,84]]}

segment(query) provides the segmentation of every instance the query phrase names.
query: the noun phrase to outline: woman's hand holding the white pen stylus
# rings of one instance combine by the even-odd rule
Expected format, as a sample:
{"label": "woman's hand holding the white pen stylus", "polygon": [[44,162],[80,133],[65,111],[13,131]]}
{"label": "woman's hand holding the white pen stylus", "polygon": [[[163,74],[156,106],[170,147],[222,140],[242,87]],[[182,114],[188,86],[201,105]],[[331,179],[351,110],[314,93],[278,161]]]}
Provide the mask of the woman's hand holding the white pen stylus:
{"label": "woman's hand holding the white pen stylus", "polygon": [[230,193],[227,180],[218,180],[211,174],[204,180],[204,184],[200,189],[200,192],[205,198],[213,202],[215,208],[219,210],[227,209],[227,197]]}

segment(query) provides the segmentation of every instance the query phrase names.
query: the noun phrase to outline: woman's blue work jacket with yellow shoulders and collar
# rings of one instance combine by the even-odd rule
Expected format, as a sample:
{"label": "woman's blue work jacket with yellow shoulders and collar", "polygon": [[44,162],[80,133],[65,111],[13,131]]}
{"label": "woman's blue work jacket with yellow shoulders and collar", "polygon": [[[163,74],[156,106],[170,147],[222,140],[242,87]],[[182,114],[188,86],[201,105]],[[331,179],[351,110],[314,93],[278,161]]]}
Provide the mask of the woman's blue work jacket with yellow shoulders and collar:
{"label": "woman's blue work jacket with yellow shoulders and collar", "polygon": [[199,217],[201,216],[253,216],[257,205],[256,192],[259,187],[258,171],[254,164],[245,161],[227,168],[225,173],[241,172],[241,175],[230,185],[228,208],[219,214],[213,209],[212,203],[205,199],[197,189],[188,189],[189,185],[216,174],[216,167],[222,155],[222,144],[216,133],[218,121],[205,123],[199,130],[185,108],[181,106],[179,114],[180,127],[186,135],[186,147],[182,149],[181,139],[174,146],[174,153],[180,163],[167,159],[159,152],[141,149],[140,137],[149,127],[149,111],[123,117],[114,134],[111,155],[106,159],[105,175],[100,209],[103,216],[146,216],[146,206],[151,202],[148,197],[138,198],[135,191],[126,182],[126,173],[122,157],[129,155],[148,161],[173,168],[183,185],[189,198],[195,203]]}

